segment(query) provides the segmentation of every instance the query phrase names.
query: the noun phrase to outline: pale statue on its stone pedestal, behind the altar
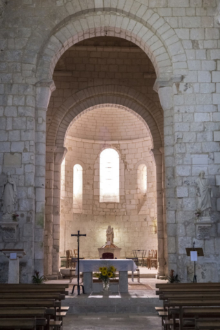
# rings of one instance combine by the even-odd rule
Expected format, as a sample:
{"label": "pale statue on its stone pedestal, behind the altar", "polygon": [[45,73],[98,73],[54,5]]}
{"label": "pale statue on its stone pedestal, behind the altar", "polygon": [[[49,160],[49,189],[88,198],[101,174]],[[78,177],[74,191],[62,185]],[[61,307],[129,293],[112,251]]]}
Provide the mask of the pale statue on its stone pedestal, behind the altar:
{"label": "pale statue on its stone pedestal, behind the altar", "polygon": [[111,225],[109,225],[107,231],[107,243],[105,243],[101,248],[98,249],[98,256],[100,259],[120,259],[120,252],[122,249],[118,248],[113,243],[114,232]]}

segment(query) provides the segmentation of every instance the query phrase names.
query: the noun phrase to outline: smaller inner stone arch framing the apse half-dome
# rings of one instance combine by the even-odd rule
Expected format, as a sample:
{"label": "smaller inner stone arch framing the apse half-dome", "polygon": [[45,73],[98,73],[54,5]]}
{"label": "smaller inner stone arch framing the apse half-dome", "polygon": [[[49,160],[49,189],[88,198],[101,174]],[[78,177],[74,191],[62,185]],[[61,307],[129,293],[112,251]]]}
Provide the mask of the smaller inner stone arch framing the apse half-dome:
{"label": "smaller inner stone arch framing the apse half-dome", "polygon": [[[47,145],[63,146],[69,124],[84,111],[100,104],[114,104],[132,112],[144,122],[153,146],[163,145],[163,114],[143,94],[130,87],[106,85],[90,87],[69,97],[56,111],[47,131]],[[55,133],[56,132],[56,133]]]}

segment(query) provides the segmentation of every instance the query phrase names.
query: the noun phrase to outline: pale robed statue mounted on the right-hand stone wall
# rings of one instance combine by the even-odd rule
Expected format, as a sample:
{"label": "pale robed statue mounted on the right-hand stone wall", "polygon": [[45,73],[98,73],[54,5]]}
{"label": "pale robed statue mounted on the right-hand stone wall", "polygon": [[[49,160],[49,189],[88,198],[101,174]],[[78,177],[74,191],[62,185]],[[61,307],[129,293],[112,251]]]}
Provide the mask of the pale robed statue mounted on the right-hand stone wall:
{"label": "pale robed statue mounted on the right-hand stone wall", "polygon": [[208,179],[205,179],[205,172],[201,170],[199,178],[196,181],[197,185],[197,211],[201,212],[201,217],[210,217],[212,209],[212,188],[208,184]]}

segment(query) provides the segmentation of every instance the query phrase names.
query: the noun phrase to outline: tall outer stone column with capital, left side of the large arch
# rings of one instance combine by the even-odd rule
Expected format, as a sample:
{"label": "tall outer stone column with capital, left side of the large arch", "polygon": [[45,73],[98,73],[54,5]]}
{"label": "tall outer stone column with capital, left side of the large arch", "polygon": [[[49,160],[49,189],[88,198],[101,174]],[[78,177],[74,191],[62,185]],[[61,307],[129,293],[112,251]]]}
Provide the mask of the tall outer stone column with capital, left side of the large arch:
{"label": "tall outer stone column with capital, left side of the large arch", "polygon": [[[53,80],[36,83],[36,168],[35,168],[35,225],[34,225],[34,267],[43,274],[44,228],[45,228],[45,166],[46,166],[46,115],[50,96],[55,90]],[[30,192],[34,194],[34,191]]]}

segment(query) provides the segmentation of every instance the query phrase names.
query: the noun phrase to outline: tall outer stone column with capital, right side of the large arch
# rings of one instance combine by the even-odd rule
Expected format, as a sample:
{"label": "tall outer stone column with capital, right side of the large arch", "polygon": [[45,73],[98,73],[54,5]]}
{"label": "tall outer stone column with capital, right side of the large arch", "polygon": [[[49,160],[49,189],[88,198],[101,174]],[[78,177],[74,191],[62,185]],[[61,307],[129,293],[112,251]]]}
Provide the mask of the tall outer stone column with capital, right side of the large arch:
{"label": "tall outer stone column with capital, right side of the large arch", "polygon": [[157,78],[154,90],[159,95],[159,100],[164,110],[164,168],[166,188],[166,221],[164,229],[167,230],[167,240],[164,245],[167,248],[166,270],[177,270],[177,225],[175,198],[175,139],[174,139],[174,110],[173,110],[173,84],[180,83],[181,75],[167,75]]}

